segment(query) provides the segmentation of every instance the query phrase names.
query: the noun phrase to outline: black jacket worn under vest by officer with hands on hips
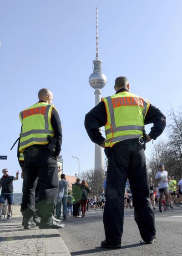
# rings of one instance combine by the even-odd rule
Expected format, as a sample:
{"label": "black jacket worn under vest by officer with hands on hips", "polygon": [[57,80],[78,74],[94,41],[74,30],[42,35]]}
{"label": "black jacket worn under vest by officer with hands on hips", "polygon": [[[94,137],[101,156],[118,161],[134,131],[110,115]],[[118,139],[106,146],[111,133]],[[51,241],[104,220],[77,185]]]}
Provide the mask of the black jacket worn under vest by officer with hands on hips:
{"label": "black jacket worn under vest by officer with hands on hips", "polygon": [[[126,88],[122,88],[116,93],[121,91],[128,91]],[[90,112],[86,114],[85,117],[85,128],[90,137],[91,141],[94,143],[101,145],[104,141],[104,137],[99,132],[100,127],[104,126],[107,122],[106,115],[106,107],[104,101],[101,101],[96,107],[92,108]],[[163,132],[166,126],[166,117],[162,114],[162,112],[157,108],[150,104],[149,110],[144,120],[145,124],[153,123],[153,127],[151,128],[150,133],[148,134],[151,139],[157,139],[159,135]],[[115,150],[119,147],[123,142],[117,142],[114,144],[112,148],[105,148],[105,154],[108,156],[111,154],[112,150]]]}

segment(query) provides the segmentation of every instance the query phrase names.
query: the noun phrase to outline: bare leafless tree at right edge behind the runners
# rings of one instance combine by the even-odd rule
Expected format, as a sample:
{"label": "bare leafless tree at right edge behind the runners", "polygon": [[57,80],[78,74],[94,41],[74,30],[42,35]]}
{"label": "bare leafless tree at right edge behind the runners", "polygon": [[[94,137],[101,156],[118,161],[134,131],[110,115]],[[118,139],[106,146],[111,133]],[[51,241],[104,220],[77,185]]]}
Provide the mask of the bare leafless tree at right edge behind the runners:
{"label": "bare leafless tree at right edge behind the runners", "polygon": [[158,171],[158,164],[164,163],[170,176],[176,180],[182,177],[182,110],[177,113],[171,108],[167,125],[167,141],[159,141],[152,149],[152,154],[147,160],[149,175],[154,178]]}

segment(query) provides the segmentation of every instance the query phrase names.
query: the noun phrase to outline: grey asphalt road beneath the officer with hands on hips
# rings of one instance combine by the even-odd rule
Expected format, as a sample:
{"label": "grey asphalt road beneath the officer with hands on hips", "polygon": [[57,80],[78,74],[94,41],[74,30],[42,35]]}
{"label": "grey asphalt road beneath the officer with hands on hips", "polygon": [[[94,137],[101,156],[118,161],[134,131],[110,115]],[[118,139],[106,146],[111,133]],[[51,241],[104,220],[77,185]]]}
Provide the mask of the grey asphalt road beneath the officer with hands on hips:
{"label": "grey asphalt road beneath the officer with hands on hips", "polygon": [[124,230],[119,250],[100,247],[105,239],[101,209],[86,212],[86,218],[68,216],[59,229],[71,256],[182,256],[182,207],[160,213],[155,210],[157,241],[141,245],[141,236],[134,221],[134,211],[125,209]]}

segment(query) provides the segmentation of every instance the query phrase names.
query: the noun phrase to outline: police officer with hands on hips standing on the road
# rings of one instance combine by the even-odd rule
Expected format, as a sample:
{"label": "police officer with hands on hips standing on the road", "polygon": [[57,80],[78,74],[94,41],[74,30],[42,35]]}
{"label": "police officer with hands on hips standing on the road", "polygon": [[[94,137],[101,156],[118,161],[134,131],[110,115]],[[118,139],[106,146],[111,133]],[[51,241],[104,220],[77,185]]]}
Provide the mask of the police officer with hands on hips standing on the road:
{"label": "police officer with hands on hips standing on the road", "polygon": [[[144,154],[144,125],[153,123],[146,142],[157,139],[166,126],[166,117],[148,100],[129,92],[129,82],[120,76],[115,80],[116,94],[102,98],[85,117],[90,139],[105,148],[108,158],[104,229],[106,239],[101,247],[121,248],[123,202],[127,177],[133,197],[135,221],[143,243],[156,240],[155,219],[149,199],[149,179]],[[99,132],[105,126],[106,139]]]}

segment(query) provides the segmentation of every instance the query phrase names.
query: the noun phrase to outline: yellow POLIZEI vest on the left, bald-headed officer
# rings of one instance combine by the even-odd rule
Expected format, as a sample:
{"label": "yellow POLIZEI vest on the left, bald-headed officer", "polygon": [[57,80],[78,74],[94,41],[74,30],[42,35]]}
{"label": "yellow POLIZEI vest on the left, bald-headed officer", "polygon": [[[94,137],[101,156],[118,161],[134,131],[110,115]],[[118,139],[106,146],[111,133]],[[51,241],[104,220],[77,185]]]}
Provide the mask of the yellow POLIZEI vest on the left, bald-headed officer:
{"label": "yellow POLIZEI vest on the left, bald-headed officer", "polygon": [[20,112],[22,123],[19,151],[34,144],[48,144],[47,135],[54,137],[51,125],[51,113],[53,105],[46,102],[38,102]]}

